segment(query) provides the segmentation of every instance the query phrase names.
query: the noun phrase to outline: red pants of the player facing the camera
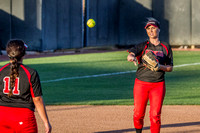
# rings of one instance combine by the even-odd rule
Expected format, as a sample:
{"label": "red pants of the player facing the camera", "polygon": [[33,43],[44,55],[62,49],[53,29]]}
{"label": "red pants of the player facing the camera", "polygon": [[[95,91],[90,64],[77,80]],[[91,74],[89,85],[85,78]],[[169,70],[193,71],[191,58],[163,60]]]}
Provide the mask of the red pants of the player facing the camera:
{"label": "red pants of the player facing the camera", "polygon": [[160,132],[160,115],[165,96],[165,82],[144,82],[135,79],[134,84],[134,126],[137,129],[143,128],[148,100],[150,101],[151,133]]}

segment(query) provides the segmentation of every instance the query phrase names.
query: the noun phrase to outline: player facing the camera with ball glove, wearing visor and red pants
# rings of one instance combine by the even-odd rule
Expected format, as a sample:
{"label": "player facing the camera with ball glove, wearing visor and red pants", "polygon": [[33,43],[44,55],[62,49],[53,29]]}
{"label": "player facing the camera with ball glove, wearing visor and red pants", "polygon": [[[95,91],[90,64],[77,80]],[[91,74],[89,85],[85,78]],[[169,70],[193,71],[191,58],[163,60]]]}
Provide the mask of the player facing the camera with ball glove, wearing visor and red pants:
{"label": "player facing the camera with ball glove, wearing visor and red pants", "polygon": [[[136,133],[141,133],[143,128],[143,119],[148,100],[150,101],[150,121],[151,133],[160,132],[160,115],[165,96],[165,72],[173,70],[173,55],[170,45],[160,42],[159,32],[160,24],[154,18],[149,18],[145,26],[148,41],[135,45],[129,49],[127,60],[138,61],[138,69],[134,84],[134,126]],[[141,57],[148,51],[152,51],[159,61],[158,71],[152,71],[146,68],[141,62]]]}

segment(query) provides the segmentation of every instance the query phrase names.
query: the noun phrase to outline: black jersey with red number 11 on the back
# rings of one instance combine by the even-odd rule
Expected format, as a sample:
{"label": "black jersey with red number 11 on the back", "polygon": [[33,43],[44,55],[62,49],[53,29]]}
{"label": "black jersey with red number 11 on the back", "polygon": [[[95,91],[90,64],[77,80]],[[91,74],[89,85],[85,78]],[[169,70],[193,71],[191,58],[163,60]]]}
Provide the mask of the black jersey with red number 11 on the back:
{"label": "black jersey with red number 11 on the back", "polygon": [[15,80],[13,96],[10,90],[10,63],[0,68],[0,106],[35,109],[33,97],[42,96],[40,78],[36,70],[20,64],[19,77]]}

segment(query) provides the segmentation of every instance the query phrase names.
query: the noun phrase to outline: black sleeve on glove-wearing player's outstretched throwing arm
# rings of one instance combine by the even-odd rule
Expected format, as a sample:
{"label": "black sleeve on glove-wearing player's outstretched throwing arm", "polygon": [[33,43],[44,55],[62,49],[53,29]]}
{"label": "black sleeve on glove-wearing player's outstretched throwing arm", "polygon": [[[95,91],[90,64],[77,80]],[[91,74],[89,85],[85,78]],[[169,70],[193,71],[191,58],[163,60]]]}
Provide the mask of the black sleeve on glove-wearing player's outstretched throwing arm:
{"label": "black sleeve on glove-wearing player's outstretched throwing arm", "polygon": [[132,52],[135,54],[135,56],[138,56],[142,53],[142,51],[144,50],[145,48],[145,45],[146,45],[146,42],[143,42],[143,43],[139,43],[137,45],[134,45],[132,48],[130,48],[128,50],[128,52]]}

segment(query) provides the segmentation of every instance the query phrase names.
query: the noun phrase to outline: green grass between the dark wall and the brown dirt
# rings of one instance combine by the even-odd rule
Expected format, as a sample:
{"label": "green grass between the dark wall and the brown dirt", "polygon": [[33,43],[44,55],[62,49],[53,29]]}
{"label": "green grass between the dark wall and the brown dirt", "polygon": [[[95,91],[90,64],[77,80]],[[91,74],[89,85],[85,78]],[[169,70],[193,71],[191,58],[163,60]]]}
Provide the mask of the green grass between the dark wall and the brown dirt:
{"label": "green grass between the dark wall and the brown dirt", "polygon": [[[174,71],[166,73],[166,105],[200,105],[199,51],[174,51]],[[136,70],[127,52],[91,53],[24,59],[40,75],[48,105],[132,105],[135,73],[87,77]],[[7,62],[0,62],[0,66]],[[64,78],[82,77],[78,79]],[[60,81],[49,81],[61,79]]]}

